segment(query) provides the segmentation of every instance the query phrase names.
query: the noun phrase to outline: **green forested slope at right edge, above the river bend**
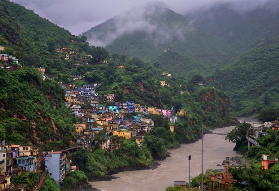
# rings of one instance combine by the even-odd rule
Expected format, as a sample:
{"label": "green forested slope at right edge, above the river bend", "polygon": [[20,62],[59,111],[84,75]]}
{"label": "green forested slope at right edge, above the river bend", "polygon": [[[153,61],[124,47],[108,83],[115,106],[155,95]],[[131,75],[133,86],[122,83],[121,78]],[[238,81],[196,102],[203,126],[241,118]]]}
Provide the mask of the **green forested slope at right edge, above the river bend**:
{"label": "green forested slope at right edge, above the river bend", "polygon": [[[276,39],[267,42],[272,44]],[[263,107],[279,105],[278,68],[279,45],[269,45],[248,51],[209,80],[229,96],[233,111],[252,115]]]}

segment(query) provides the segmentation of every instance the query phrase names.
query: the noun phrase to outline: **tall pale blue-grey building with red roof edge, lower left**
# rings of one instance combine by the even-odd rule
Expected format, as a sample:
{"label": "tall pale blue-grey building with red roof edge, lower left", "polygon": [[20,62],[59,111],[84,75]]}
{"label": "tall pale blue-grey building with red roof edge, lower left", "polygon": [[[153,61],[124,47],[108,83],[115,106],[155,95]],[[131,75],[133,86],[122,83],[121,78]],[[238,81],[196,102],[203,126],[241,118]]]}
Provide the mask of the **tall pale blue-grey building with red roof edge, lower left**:
{"label": "tall pale blue-grey building with red roof edge, lower left", "polygon": [[51,178],[60,187],[65,177],[66,155],[61,151],[51,152],[46,157],[46,167]]}

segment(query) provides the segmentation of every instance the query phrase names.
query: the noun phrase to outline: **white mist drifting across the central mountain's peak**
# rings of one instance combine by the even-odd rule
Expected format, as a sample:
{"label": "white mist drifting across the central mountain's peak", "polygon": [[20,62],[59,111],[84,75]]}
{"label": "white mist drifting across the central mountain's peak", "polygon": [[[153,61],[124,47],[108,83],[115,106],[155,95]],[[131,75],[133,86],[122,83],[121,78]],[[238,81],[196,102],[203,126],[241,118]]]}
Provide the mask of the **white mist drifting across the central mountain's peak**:
{"label": "white mist drifting across the central mountain's peak", "polygon": [[185,40],[185,33],[192,28],[191,23],[186,22],[183,16],[175,22],[168,20],[165,17],[173,14],[166,12],[170,12],[166,7],[168,6],[164,3],[149,2],[125,11],[108,20],[105,25],[96,26],[83,34],[86,35],[89,44],[103,47],[119,36],[138,31],[146,34],[143,36],[141,33],[140,38],[154,42],[154,46],[170,42],[174,38]]}

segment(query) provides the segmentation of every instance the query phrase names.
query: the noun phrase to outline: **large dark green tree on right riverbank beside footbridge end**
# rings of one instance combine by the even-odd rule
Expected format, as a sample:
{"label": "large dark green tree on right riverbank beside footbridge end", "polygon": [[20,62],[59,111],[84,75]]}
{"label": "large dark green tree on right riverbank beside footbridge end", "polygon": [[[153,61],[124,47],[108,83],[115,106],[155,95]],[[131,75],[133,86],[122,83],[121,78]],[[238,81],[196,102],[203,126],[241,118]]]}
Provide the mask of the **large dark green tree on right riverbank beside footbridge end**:
{"label": "large dark green tree on right riverbank beside footbridge end", "polygon": [[240,144],[242,140],[246,139],[247,130],[252,127],[251,124],[242,122],[241,124],[234,127],[234,129],[228,133],[226,140],[228,139],[232,143]]}

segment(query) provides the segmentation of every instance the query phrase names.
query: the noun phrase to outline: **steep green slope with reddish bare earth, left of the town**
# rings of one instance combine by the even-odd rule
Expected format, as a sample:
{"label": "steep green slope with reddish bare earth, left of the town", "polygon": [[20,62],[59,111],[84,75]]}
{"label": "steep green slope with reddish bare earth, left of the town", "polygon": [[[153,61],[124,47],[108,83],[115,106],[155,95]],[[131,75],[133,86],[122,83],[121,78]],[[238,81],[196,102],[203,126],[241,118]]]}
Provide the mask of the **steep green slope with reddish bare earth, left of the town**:
{"label": "steep green slope with reddish bare earth, left of the town", "polygon": [[0,69],[0,136],[8,143],[65,148],[74,140],[76,118],[66,108],[65,92],[43,81],[38,69]]}

